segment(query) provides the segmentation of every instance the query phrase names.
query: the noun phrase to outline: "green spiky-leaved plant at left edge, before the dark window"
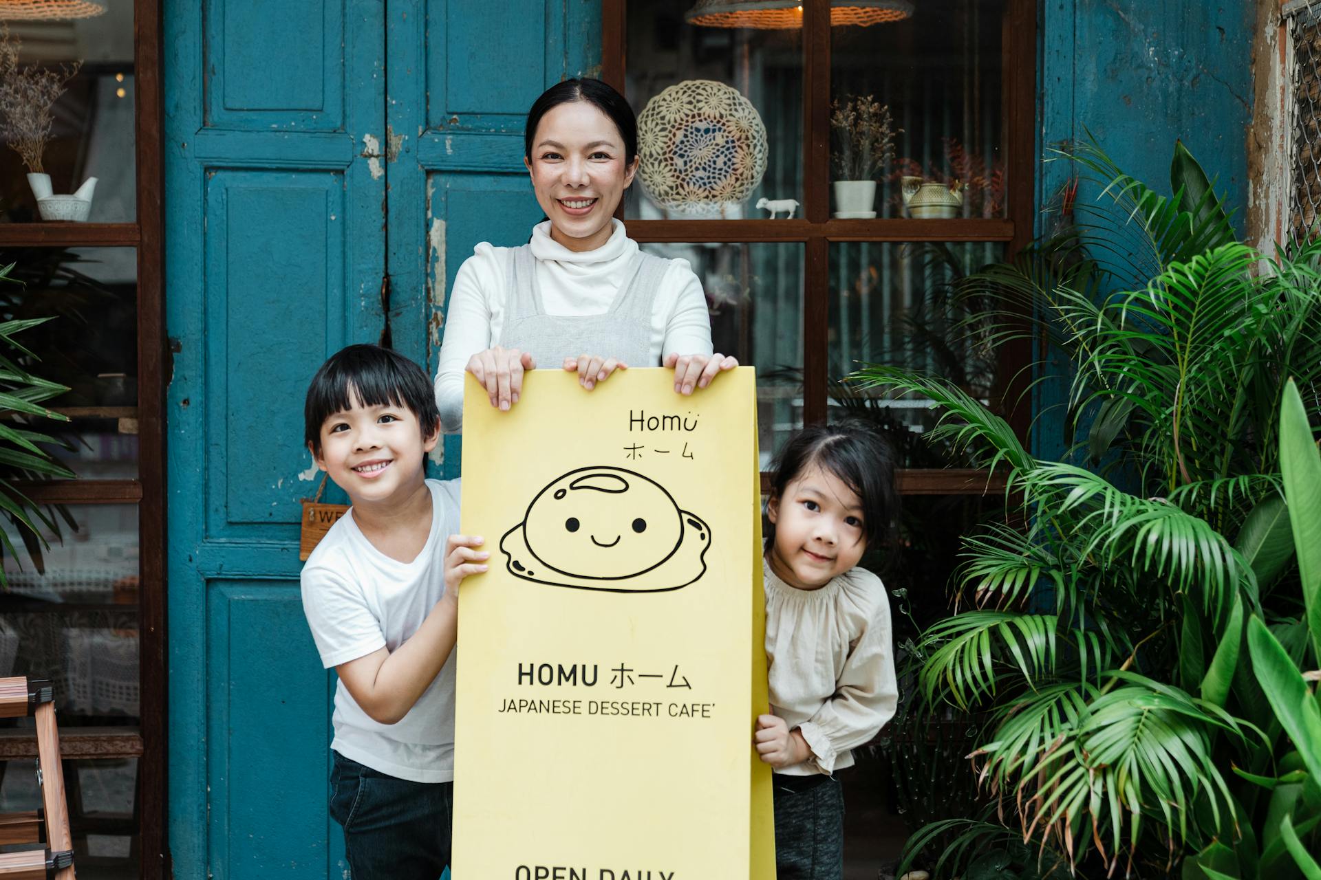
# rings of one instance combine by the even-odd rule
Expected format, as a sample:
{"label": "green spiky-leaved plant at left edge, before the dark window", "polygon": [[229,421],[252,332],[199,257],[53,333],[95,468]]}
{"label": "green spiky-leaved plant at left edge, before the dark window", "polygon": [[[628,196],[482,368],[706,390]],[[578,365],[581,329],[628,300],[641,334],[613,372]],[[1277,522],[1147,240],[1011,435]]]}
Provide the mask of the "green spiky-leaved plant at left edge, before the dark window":
{"label": "green spiky-leaved plant at left edge, before the dark window", "polygon": [[[13,268],[12,263],[0,267],[0,284],[17,284],[11,278]],[[74,478],[73,471],[50,455],[49,447],[59,445],[59,441],[29,427],[34,418],[69,421],[42,406],[44,401],[69,389],[28,372],[26,365],[38,359],[15,339],[20,332],[46,321],[49,318],[0,321],[0,515],[9,522],[8,529],[0,529],[0,557],[8,553],[17,558],[11,537],[17,536],[38,571],[44,570],[42,550],[49,548],[42,529],[58,536],[57,517],[69,528],[77,529],[63,508],[37,504],[16,484],[18,480]],[[5,583],[4,569],[0,567],[0,588]]]}

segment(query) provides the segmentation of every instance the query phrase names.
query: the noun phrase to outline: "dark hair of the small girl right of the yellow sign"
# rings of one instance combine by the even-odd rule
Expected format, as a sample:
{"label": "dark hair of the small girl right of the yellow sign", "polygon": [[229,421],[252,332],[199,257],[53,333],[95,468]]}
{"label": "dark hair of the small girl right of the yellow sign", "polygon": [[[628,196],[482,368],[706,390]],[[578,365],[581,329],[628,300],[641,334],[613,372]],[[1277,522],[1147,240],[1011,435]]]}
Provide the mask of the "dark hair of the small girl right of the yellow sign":
{"label": "dark hair of the small girl right of the yellow sign", "polygon": [[[863,501],[863,537],[868,546],[893,538],[900,515],[894,453],[876,429],[859,420],[803,427],[771,464],[770,496],[783,499],[789,484],[812,466],[834,474]],[[775,524],[768,521],[765,549],[774,541]]]}

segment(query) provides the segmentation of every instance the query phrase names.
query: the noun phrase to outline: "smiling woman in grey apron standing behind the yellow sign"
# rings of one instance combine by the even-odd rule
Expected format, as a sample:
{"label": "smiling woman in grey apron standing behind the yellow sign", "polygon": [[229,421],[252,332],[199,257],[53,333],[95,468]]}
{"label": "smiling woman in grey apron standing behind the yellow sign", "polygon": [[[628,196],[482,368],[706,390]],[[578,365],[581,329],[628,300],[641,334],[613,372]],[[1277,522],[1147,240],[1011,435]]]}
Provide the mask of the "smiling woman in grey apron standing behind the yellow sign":
{"label": "smiling woman in grey apron standing behind the yellow sign", "polygon": [[523,372],[560,364],[592,391],[616,369],[664,365],[680,394],[738,365],[712,354],[701,282],[686,260],[642,253],[614,211],[638,170],[638,125],[597,79],[532,104],[523,164],[546,220],[518,248],[477,245],[454,278],[436,373],[446,431],[462,426],[464,372],[491,406],[518,402]]}

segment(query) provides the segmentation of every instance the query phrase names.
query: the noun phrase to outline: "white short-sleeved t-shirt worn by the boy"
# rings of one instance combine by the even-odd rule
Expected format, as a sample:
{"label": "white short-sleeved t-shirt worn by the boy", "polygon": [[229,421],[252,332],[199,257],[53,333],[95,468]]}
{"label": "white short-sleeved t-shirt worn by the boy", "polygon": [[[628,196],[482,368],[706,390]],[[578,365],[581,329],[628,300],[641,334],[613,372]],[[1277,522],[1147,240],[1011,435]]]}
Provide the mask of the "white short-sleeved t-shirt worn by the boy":
{"label": "white short-sleeved t-shirt worn by the boy", "polygon": [[[427,480],[431,533],[412,562],[391,559],[353,520],[330,526],[303,566],[303,612],[326,669],[384,646],[395,650],[445,594],[445,541],[458,533],[458,480]],[[454,778],[454,654],[395,724],[371,720],[343,682],[334,693],[330,748],[415,782]]]}

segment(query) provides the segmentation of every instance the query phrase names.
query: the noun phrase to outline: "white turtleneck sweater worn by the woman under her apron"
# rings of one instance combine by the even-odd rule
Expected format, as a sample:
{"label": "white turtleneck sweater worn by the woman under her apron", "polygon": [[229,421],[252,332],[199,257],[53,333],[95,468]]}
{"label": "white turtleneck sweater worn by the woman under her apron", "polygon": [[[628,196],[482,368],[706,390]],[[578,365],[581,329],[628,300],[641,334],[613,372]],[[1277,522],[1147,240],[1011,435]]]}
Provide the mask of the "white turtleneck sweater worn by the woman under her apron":
{"label": "white turtleneck sweater worn by the woman under her apron", "polygon": [[[629,261],[638,252],[638,243],[627,236],[624,223],[612,223],[610,240],[596,251],[584,252],[569,251],[552,239],[550,220],[532,227],[536,284],[547,314],[597,315],[610,309]],[[436,369],[436,404],[445,433],[462,429],[468,360],[499,342],[505,326],[507,259],[509,248],[482,241],[454,277]],[[651,307],[651,363],[629,365],[658,367],[668,354],[709,356],[711,352],[711,317],[701,281],[687,260],[671,260]],[[564,356],[581,354],[610,356],[609,351],[565,351]],[[561,364],[536,367],[557,369]]]}

